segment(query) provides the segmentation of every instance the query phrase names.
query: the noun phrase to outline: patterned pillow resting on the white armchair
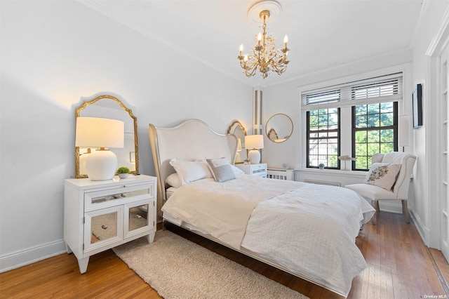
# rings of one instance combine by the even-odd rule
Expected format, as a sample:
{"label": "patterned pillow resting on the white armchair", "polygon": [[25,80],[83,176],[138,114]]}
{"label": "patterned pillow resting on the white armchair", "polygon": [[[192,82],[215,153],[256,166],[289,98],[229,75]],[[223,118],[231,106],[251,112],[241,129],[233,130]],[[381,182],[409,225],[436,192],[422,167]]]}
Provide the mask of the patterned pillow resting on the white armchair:
{"label": "patterned pillow resting on the white armchair", "polygon": [[391,190],[394,186],[401,164],[373,163],[365,178],[365,183]]}

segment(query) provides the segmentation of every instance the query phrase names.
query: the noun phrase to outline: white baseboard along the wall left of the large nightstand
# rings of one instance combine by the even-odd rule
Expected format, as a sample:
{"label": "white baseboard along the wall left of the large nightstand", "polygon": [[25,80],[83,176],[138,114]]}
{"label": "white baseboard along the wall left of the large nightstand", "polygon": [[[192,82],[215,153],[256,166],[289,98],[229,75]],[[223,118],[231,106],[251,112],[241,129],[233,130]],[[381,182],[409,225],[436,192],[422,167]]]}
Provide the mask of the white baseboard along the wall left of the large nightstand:
{"label": "white baseboard along the wall left of the large nightstand", "polygon": [[0,256],[0,273],[13,270],[18,267],[36,263],[39,260],[45,260],[55,255],[66,253],[64,240],[58,240],[41,244],[22,251],[16,251]]}

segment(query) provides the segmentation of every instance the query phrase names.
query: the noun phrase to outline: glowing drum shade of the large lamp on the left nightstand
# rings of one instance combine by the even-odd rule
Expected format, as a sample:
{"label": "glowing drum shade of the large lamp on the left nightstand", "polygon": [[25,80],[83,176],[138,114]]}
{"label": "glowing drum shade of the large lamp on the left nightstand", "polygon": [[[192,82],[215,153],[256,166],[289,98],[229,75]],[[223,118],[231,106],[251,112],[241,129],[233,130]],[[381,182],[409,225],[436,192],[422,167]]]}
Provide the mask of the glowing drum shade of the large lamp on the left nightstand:
{"label": "glowing drum shade of the large lamp on the left nightstand", "polygon": [[123,147],[125,124],[116,119],[76,118],[76,147]]}

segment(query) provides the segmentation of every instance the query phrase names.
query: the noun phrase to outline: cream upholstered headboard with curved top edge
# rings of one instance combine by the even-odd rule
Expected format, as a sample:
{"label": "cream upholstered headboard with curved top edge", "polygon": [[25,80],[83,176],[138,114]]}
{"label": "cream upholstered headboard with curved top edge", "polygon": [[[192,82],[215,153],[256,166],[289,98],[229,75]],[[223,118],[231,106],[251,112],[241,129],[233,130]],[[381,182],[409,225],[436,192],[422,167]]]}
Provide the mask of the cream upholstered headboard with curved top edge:
{"label": "cream upholstered headboard with curved top edge", "polygon": [[234,164],[237,150],[235,135],[222,135],[199,119],[189,119],[173,128],[157,128],[149,124],[154,169],[158,178],[158,213],[166,201],[166,178],[175,173],[170,160],[194,161],[225,157]]}

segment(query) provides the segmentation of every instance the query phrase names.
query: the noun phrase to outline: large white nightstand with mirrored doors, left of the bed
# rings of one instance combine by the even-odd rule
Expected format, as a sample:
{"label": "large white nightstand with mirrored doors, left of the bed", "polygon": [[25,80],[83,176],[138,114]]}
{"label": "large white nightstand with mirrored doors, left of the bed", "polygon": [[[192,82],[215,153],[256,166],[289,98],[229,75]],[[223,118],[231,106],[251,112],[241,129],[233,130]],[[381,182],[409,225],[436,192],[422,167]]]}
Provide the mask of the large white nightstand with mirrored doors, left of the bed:
{"label": "large white nightstand with mirrored doors, left of the bed", "polygon": [[155,221],[156,178],[152,176],[65,180],[64,240],[81,273],[95,253],[144,236],[152,243]]}

